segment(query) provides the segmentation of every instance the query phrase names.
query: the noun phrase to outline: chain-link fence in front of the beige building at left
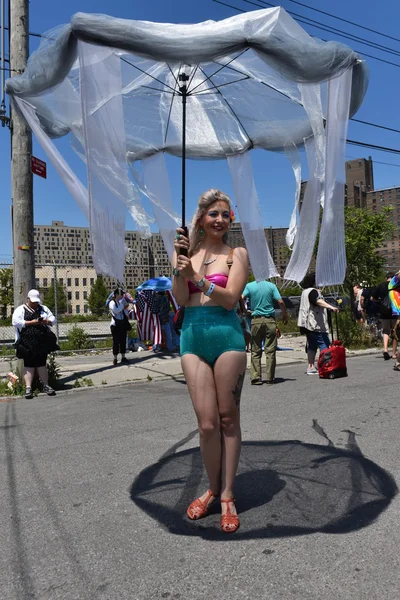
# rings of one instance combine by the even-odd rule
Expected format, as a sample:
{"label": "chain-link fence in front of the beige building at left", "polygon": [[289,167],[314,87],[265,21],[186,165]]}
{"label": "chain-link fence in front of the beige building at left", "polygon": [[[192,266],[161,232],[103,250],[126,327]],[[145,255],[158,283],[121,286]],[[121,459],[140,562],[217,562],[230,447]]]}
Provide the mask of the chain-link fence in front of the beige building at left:
{"label": "chain-link fence in front of the beige building at left", "polygon": [[[152,276],[161,275],[157,266],[151,270]],[[55,333],[62,350],[111,347],[110,315],[105,301],[115,288],[115,281],[97,277],[91,265],[36,265],[35,276],[35,287],[40,291],[43,304],[57,319]],[[126,288],[133,292],[140,283],[132,279]],[[11,324],[13,310],[12,265],[3,263],[0,264],[0,347],[3,354],[12,351],[15,338]],[[130,335],[136,337],[135,326]]]}

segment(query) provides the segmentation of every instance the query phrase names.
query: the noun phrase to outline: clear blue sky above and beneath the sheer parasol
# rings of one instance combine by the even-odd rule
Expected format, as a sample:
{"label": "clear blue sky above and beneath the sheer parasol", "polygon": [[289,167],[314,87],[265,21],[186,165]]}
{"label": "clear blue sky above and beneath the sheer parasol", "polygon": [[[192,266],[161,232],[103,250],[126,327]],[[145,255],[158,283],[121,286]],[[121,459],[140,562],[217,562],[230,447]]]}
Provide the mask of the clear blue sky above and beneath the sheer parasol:
{"label": "clear blue sky above and beneath the sheer parasol", "polygon": [[[223,0],[228,4],[242,9],[256,9],[251,3],[243,0]],[[260,0],[254,0],[255,3]],[[379,9],[373,0],[302,0],[305,4],[320,10],[336,14],[350,21],[357,22],[370,28],[375,28],[400,39],[398,24],[400,23],[400,2],[398,0],[382,0]],[[271,3],[274,3],[273,0]],[[276,4],[279,4],[277,2]],[[282,0],[280,5],[285,9],[297,12],[306,17],[328,24],[332,27],[358,35],[368,41],[375,41],[384,46],[400,51],[400,41],[390,40],[365,30],[355,28],[325,15],[313,12],[299,6],[290,0]],[[195,23],[207,19],[219,20],[237,14],[238,11],[221,6],[212,0],[69,0],[55,2],[54,0],[34,0],[30,3],[30,30],[38,33],[45,32],[55,26],[70,21],[75,12],[105,13],[116,17],[142,19],[162,22]],[[304,26],[304,25],[303,25]],[[335,39],[348,43],[358,51],[397,63],[398,67],[387,65],[371,58],[366,58],[370,68],[369,89],[356,118],[400,129],[400,56],[390,55],[377,49],[368,48],[361,42],[352,42],[339,34],[319,31],[314,27],[304,26],[312,35],[324,39]],[[37,47],[37,38],[31,38],[31,52]],[[380,146],[400,148],[400,134],[381,129],[375,129],[359,123],[350,123],[348,137]],[[11,225],[10,225],[10,163],[9,163],[9,132],[0,128],[0,179],[1,211],[0,221],[0,260],[10,257]],[[57,142],[61,151],[71,166],[85,181],[85,168],[65,140]],[[46,160],[44,152],[34,141],[33,153]],[[258,195],[262,207],[264,226],[285,227],[289,223],[293,207],[295,183],[292,170],[287,159],[264,151],[255,151],[253,165]],[[348,146],[347,157],[372,156],[374,162],[375,187],[383,188],[400,185],[400,156],[372,151],[364,148]],[[388,166],[382,163],[391,163]],[[180,165],[178,159],[168,160],[170,178],[176,210],[180,202]],[[232,194],[231,179],[225,161],[188,161],[187,170],[188,216],[194,211],[196,199],[206,188],[218,187]],[[86,181],[85,181],[86,182]],[[82,213],[69,196],[58,175],[48,164],[48,178],[43,180],[34,177],[34,210],[35,223],[47,224],[52,220],[63,220],[67,225],[85,226],[87,222]],[[133,229],[134,224],[127,218],[127,229]]]}

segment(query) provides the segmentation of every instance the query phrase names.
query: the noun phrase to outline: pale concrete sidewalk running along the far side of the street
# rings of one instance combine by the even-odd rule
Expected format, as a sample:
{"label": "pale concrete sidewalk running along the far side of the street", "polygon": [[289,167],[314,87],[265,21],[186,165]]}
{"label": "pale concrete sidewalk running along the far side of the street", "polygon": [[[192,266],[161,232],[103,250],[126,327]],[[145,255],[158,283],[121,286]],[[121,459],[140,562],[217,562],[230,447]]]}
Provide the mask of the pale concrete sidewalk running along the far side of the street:
{"label": "pale concrete sidewalk running along the far side of the street", "polygon": [[[306,363],[305,337],[283,335],[279,339],[277,352],[277,375],[279,366]],[[379,348],[348,351],[347,355],[367,355],[381,352]],[[111,351],[102,353],[75,354],[73,356],[58,355],[57,363],[61,367],[60,385],[68,390],[75,387],[120,385],[134,381],[151,381],[155,379],[175,379],[182,376],[181,361],[178,353],[157,353],[151,351],[128,352],[128,364],[112,365]],[[0,377],[5,377],[10,370],[9,360],[0,363]],[[265,359],[262,358],[264,366]],[[247,367],[250,366],[250,354],[247,354]],[[78,385],[76,381],[78,380]]]}

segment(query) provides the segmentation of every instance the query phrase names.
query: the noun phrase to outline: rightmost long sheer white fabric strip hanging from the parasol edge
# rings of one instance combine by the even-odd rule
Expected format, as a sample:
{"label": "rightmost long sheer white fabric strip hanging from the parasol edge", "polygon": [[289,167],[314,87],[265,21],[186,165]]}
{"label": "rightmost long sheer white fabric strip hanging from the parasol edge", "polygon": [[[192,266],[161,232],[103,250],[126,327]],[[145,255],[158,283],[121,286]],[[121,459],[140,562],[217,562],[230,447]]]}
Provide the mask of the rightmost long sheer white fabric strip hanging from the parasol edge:
{"label": "rightmost long sheer white fabric strip hanging from the parasol edge", "polygon": [[325,205],[316,265],[318,286],[341,284],[346,275],[344,185],[351,81],[352,69],[347,69],[328,84]]}

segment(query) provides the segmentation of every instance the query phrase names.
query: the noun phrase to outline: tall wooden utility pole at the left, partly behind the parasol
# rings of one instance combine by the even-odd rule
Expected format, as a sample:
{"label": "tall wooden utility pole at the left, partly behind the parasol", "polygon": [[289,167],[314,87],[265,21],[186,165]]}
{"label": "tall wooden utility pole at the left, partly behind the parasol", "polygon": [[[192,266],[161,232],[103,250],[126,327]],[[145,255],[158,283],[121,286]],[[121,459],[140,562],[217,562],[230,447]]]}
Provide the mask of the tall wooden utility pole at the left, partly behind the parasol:
{"label": "tall wooden utility pole at the left, partly behind the parasol", "polygon": [[[22,73],[29,56],[29,0],[12,0],[10,11],[10,68]],[[11,121],[11,194],[14,257],[14,306],[23,304],[35,287],[33,243],[32,133],[14,110]]]}

